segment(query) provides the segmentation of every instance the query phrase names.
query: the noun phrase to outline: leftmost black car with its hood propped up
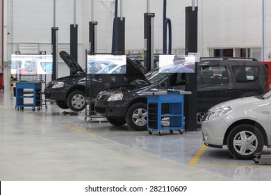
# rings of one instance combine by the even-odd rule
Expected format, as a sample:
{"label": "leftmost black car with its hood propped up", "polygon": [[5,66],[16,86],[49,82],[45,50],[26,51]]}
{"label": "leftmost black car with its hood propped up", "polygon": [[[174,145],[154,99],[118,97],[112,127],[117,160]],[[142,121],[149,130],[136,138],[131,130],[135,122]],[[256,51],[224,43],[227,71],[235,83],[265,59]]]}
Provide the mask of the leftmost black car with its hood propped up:
{"label": "leftmost black car with its hood propped up", "polygon": [[86,97],[94,101],[98,93],[106,88],[122,86],[129,84],[131,80],[145,78],[129,58],[126,58],[126,74],[86,74],[67,52],[61,51],[59,54],[69,67],[71,75],[49,81],[44,93],[47,99],[56,101],[61,109],[82,111],[85,109]]}

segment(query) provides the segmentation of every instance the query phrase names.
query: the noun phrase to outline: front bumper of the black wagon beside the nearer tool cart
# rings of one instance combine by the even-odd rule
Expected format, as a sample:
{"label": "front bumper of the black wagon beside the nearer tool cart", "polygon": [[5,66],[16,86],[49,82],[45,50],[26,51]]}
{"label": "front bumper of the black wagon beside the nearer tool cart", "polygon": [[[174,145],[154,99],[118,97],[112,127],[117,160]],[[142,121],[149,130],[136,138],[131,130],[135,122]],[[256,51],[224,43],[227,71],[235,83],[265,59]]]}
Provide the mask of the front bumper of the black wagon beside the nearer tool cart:
{"label": "front bumper of the black wagon beside the nearer tool cart", "polygon": [[128,104],[125,101],[97,101],[95,100],[95,113],[108,117],[125,117]]}

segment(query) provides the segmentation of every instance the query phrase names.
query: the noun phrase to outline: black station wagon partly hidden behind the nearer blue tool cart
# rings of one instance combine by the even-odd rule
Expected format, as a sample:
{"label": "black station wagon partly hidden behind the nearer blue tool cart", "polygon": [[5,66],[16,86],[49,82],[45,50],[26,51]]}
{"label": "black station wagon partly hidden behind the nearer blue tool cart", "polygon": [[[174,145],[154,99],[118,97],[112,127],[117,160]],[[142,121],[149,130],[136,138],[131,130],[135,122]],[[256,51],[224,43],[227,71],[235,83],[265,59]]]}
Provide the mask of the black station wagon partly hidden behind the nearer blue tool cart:
{"label": "black station wagon partly hidden behind the nearer blue tool cart", "polygon": [[[95,100],[95,112],[106,116],[112,125],[127,123],[131,130],[147,129],[147,97],[142,91],[184,89],[184,73],[148,72],[126,86],[101,91]],[[189,73],[188,73],[189,74]],[[147,82],[147,81],[148,82]],[[202,59],[197,63],[197,111],[204,114],[215,104],[240,97],[265,93],[268,73],[254,59]]]}

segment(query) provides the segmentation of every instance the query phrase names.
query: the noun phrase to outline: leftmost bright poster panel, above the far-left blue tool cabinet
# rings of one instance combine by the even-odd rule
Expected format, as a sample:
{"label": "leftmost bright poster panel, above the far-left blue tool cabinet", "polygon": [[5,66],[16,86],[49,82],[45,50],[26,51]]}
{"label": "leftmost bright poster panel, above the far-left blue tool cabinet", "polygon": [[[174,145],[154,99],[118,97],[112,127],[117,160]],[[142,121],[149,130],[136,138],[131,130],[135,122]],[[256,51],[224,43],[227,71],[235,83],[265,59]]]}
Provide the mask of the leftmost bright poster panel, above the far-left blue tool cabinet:
{"label": "leftmost bright poster panel, above the far-left blue tool cabinet", "polygon": [[11,74],[36,75],[52,74],[52,55],[11,55]]}

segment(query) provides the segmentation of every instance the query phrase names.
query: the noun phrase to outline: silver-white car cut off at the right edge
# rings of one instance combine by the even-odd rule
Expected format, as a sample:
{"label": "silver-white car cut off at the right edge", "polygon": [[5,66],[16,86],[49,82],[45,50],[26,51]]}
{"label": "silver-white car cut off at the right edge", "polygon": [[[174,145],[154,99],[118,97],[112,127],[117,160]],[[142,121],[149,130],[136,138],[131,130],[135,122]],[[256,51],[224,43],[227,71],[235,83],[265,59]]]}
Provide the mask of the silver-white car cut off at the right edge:
{"label": "silver-white car cut off at the right edge", "polygon": [[252,159],[263,146],[271,148],[271,91],[212,107],[204,115],[202,134],[206,146],[227,145],[238,159]]}

